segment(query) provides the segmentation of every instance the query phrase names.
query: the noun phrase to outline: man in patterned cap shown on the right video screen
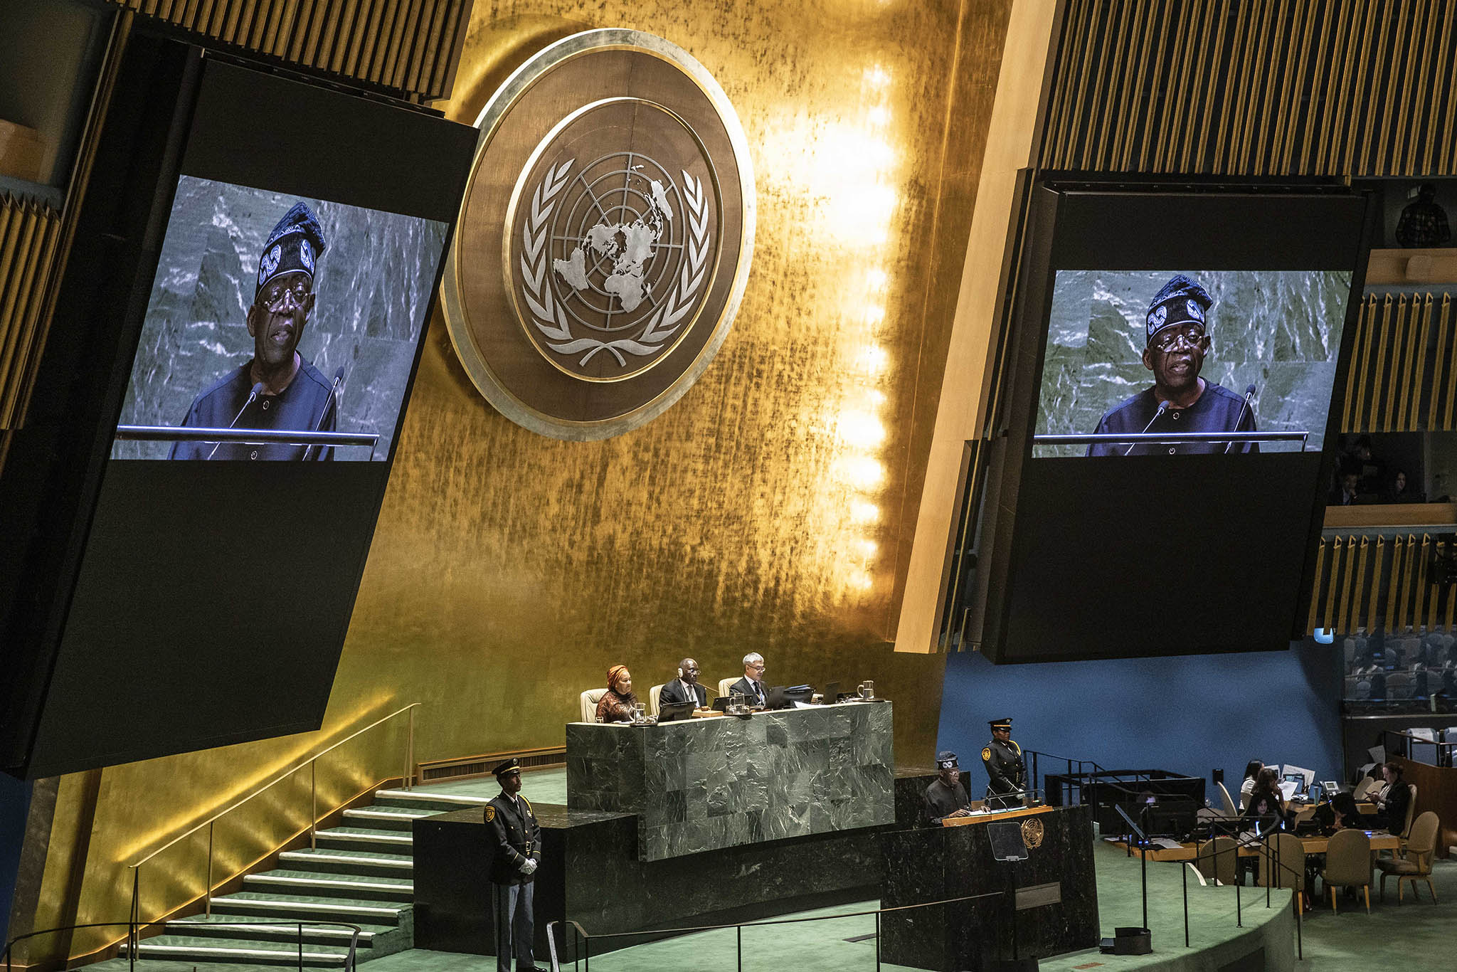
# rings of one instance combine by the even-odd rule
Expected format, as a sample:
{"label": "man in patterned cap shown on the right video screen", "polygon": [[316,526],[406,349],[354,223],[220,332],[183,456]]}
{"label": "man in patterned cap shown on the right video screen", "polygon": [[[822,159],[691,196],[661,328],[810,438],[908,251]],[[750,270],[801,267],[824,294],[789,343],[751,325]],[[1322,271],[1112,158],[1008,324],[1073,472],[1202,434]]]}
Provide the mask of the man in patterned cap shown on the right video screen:
{"label": "man in patterned cap shown on the right video screen", "polygon": [[[1214,299],[1198,281],[1176,274],[1148,305],[1144,367],[1148,389],[1126,398],[1099,421],[1097,434],[1254,431],[1254,409],[1218,382],[1199,377],[1209,353],[1206,318]],[[1100,442],[1090,456],[1148,456],[1190,452],[1259,452],[1253,442]]]}

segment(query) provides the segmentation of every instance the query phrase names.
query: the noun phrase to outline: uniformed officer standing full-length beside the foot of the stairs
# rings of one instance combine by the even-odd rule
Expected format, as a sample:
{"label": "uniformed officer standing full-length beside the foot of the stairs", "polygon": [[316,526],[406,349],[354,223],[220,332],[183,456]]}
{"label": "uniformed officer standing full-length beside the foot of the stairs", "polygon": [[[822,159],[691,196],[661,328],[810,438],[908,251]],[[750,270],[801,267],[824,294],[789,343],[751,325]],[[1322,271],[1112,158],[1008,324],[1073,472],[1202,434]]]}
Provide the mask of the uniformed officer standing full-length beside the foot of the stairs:
{"label": "uniformed officer standing full-length beside the foot of the stairs", "polygon": [[495,968],[510,972],[516,953],[516,972],[536,972],[532,941],[536,927],[532,892],[542,850],[542,829],[532,804],[522,796],[522,761],[507,759],[491,772],[501,783],[501,794],[485,804],[485,822],[495,838],[491,864],[491,909],[495,915]]}

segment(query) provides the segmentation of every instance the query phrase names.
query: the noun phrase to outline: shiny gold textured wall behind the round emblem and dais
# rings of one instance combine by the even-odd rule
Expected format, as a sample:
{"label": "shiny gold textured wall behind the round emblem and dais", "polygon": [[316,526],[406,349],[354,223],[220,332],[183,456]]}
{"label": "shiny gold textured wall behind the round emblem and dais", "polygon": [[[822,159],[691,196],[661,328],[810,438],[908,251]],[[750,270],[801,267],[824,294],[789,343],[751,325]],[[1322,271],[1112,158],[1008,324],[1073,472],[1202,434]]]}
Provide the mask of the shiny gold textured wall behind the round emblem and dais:
{"label": "shiny gold textured wall behind the round emblem and dais", "polygon": [[[615,662],[643,695],[683,654],[705,682],[749,650],[772,682],[871,678],[896,701],[898,758],[928,762],[944,659],[889,638],[1010,6],[478,1],[444,105],[457,119],[543,41],[597,26],[661,35],[720,80],[759,194],[739,318],[667,414],[568,443],[495,414],[437,316],[325,730],[106,769],[76,920],[124,917],[127,860],[351,726],[421,701],[421,759],[559,745]],[[331,796],[369,759],[393,765],[389,746],[341,767]],[[284,803],[229,831],[230,866],[291,832]],[[36,927],[64,912],[68,854],[52,841]],[[144,911],[195,893],[192,867]]]}

